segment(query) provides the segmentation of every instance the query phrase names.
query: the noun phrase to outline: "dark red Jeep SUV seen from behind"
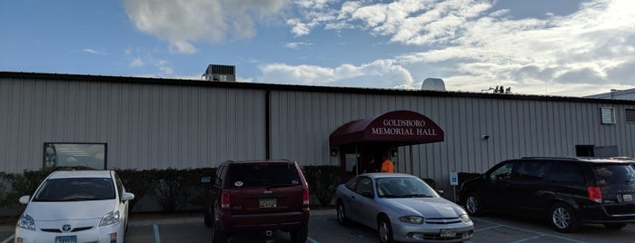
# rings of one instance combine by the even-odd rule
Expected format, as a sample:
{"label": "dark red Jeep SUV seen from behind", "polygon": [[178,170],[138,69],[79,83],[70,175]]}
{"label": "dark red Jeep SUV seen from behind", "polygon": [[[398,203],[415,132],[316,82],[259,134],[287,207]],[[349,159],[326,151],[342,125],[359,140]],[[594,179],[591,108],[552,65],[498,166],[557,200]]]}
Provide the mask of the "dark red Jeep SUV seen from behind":
{"label": "dark red Jeep SUV seen from behind", "polygon": [[309,187],[298,164],[290,160],[225,161],[216,168],[213,199],[205,210],[213,242],[232,233],[273,230],[305,242],[309,224]]}

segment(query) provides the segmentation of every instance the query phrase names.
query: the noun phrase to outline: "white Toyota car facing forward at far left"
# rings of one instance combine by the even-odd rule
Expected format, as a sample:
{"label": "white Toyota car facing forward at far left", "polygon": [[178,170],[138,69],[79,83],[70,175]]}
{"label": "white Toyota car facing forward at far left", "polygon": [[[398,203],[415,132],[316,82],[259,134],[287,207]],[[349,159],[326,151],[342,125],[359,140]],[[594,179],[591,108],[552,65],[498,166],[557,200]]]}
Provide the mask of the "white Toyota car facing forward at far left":
{"label": "white Toyota car facing forward at far left", "polygon": [[113,170],[55,171],[20,198],[15,242],[124,242],[132,199]]}

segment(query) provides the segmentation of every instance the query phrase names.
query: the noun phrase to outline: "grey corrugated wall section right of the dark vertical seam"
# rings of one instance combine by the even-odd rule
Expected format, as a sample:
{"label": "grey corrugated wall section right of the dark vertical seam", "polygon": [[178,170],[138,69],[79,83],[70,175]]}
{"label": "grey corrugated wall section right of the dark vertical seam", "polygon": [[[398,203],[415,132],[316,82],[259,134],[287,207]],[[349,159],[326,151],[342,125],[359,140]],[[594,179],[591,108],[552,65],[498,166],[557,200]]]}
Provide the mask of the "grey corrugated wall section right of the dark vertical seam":
{"label": "grey corrugated wall section right of the dark vertical seam", "polygon": [[[600,123],[604,106],[616,108],[616,124]],[[635,123],[624,120],[633,105],[281,91],[272,92],[272,107],[274,158],[335,165],[328,138],[342,124],[395,110],[420,112],[442,127],[445,141],[400,148],[398,170],[445,187],[451,171],[483,172],[524,156],[575,157],[576,145],[618,145],[621,155],[635,156]]]}

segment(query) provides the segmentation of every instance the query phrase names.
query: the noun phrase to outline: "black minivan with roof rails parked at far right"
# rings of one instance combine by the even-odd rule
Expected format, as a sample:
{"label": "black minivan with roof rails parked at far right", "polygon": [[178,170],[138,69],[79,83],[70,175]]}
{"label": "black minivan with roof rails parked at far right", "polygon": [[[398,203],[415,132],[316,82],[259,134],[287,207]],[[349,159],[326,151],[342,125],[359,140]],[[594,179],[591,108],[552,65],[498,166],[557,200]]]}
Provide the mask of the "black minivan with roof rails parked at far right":
{"label": "black minivan with roof rails parked at far right", "polygon": [[623,160],[505,160],[461,185],[469,214],[496,211],[549,219],[555,230],[581,223],[623,228],[635,222],[635,170]]}

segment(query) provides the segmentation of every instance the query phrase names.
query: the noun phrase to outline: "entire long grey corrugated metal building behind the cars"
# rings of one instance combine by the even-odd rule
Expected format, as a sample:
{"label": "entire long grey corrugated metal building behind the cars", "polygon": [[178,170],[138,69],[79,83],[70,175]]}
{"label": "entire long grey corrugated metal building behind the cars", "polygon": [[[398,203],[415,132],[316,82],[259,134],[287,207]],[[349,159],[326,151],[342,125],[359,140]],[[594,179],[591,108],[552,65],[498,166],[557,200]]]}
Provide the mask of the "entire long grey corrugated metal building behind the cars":
{"label": "entire long grey corrugated metal building behind the cars", "polygon": [[360,154],[332,146],[332,133],[395,111],[444,132],[390,148],[397,171],[445,190],[451,171],[523,156],[635,157],[635,101],[0,72],[0,170],[342,165]]}

